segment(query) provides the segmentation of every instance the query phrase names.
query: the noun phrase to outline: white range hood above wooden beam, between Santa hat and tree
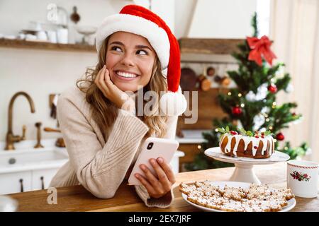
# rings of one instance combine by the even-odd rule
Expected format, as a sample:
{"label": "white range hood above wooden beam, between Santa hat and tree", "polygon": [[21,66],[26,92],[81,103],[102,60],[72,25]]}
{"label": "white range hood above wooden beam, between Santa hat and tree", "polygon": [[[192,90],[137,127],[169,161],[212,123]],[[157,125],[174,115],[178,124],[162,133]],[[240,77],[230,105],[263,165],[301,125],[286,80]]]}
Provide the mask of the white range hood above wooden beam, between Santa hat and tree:
{"label": "white range hood above wooden beam, between Santa hat and tree", "polygon": [[252,35],[250,20],[256,0],[197,0],[187,37],[244,38]]}

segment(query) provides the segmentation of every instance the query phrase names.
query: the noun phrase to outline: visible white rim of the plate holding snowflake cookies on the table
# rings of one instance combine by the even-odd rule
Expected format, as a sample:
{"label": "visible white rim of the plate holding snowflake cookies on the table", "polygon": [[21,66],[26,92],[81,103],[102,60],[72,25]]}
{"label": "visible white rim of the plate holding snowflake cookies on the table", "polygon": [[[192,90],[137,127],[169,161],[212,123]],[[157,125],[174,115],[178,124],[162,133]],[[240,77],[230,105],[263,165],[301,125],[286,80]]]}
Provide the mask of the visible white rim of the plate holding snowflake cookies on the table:
{"label": "visible white rim of the plate holding snowflake cookies on the table", "polygon": [[[244,182],[210,182],[212,185],[214,186],[220,186],[221,189],[223,189],[223,187],[225,186],[225,184],[227,184],[227,186],[232,186],[232,187],[241,187],[243,189],[247,189],[250,187],[250,183],[244,183]],[[191,206],[195,206],[196,208],[199,208],[201,210],[205,210],[205,211],[210,211],[210,212],[226,212],[223,210],[216,210],[213,208],[207,208],[207,207],[203,207],[203,206],[199,206],[196,203],[192,203],[191,201],[187,200],[187,195],[182,193],[181,196],[184,198],[184,200],[191,204]],[[291,210],[293,207],[296,206],[296,199],[295,198],[291,198],[288,202],[288,205],[285,206],[284,208],[282,208],[282,210],[280,210],[279,212],[287,212],[289,210]]]}

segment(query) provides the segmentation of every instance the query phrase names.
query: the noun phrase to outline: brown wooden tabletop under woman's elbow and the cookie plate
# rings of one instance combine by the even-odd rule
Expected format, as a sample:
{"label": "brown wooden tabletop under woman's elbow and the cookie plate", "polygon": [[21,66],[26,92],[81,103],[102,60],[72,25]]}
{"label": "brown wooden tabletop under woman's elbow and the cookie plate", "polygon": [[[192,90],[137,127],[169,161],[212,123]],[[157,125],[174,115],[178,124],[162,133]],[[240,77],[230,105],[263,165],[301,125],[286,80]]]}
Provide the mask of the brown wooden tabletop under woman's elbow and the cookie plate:
{"label": "brown wooden tabletop under woman's elbow and the cookie plate", "polygon": [[[18,211],[198,211],[194,206],[186,203],[181,197],[178,185],[181,182],[228,180],[234,167],[221,169],[207,169],[194,172],[182,172],[177,174],[177,182],[174,184],[174,202],[169,208],[147,208],[135,193],[133,186],[121,184],[116,195],[109,199],[96,198],[83,186],[67,186],[57,188],[57,204],[48,204],[47,190],[28,191],[10,194],[19,202]],[[286,187],[286,162],[274,165],[254,166],[257,177],[264,184],[274,188]],[[298,198],[296,207],[291,211],[319,211],[319,198]]]}

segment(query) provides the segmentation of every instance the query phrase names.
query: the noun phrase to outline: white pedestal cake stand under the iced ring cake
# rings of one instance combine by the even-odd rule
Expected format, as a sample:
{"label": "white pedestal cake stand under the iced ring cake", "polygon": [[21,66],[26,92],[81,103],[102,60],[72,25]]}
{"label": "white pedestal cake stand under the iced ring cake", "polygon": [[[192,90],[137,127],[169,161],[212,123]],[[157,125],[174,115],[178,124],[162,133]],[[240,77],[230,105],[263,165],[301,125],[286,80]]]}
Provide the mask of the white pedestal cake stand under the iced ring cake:
{"label": "white pedestal cake stand under the iced ring cake", "polygon": [[261,184],[260,180],[254,173],[254,165],[267,165],[277,162],[286,162],[289,160],[289,155],[275,151],[271,157],[265,159],[254,159],[250,157],[230,157],[225,155],[219,147],[208,148],[205,150],[205,155],[212,157],[221,162],[229,162],[235,164],[235,170],[230,177],[231,182],[248,182],[254,184]]}

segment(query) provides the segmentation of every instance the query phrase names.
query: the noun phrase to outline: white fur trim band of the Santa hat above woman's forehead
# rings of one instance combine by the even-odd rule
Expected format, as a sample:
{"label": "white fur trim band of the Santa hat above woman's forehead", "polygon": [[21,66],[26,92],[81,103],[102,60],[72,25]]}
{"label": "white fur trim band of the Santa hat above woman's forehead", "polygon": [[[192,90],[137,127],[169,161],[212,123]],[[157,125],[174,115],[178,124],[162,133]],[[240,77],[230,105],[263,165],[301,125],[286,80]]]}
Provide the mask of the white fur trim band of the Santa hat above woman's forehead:
{"label": "white fur trim band of the Santa hat above woman's forehead", "polygon": [[166,69],[169,63],[169,38],[164,29],[156,23],[140,16],[129,14],[114,14],[106,17],[96,31],[96,50],[100,51],[103,41],[114,32],[131,32],[145,37],[157,53],[162,69]]}

